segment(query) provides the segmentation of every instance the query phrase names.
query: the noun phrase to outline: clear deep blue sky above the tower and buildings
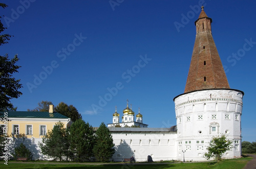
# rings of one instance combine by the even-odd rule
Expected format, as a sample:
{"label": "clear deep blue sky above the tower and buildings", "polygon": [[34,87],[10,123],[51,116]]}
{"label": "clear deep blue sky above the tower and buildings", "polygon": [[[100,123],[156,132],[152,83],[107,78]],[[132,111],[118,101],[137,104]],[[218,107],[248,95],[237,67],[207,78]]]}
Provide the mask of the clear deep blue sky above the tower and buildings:
{"label": "clear deep blue sky above the tower and buildings", "polygon": [[65,102],[94,127],[112,123],[115,106],[121,117],[127,99],[148,127],[176,125],[173,98],[184,92],[203,4],[229,85],[245,92],[243,140],[255,141],[255,1],[2,2],[14,37],[0,54],[22,66],[14,106]]}

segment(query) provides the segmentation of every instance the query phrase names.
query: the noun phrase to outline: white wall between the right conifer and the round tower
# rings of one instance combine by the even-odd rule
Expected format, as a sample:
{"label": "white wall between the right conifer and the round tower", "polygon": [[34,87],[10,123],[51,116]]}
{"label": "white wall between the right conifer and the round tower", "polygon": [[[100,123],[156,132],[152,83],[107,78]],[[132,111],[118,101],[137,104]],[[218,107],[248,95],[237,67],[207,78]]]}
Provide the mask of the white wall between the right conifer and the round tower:
{"label": "white wall between the right conifer and the round tower", "polygon": [[147,161],[148,155],[153,161],[176,159],[176,132],[112,132],[112,136],[116,149],[114,161],[132,156],[136,161]]}

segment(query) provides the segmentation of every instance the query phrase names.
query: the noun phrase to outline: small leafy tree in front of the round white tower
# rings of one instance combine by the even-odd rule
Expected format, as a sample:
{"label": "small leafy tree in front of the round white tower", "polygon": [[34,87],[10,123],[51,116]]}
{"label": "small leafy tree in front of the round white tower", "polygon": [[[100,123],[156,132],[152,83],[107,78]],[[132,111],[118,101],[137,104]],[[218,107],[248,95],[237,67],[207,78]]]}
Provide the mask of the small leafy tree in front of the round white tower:
{"label": "small leafy tree in front of the round white tower", "polygon": [[209,146],[206,148],[208,152],[204,153],[204,157],[207,160],[213,157],[217,162],[220,162],[223,154],[233,148],[231,144],[232,141],[227,140],[224,134],[221,136],[214,136],[212,137]]}

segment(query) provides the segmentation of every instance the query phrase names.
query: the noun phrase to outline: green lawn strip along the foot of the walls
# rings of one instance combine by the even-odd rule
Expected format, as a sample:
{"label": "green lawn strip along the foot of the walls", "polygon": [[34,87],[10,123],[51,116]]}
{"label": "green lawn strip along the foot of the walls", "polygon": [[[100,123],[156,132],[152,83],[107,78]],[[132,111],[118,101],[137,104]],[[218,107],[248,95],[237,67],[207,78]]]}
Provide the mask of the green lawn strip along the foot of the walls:
{"label": "green lawn strip along the foot of the walls", "polygon": [[189,168],[189,169],[196,169],[196,168],[231,168],[231,169],[240,169],[243,168],[246,163],[252,159],[252,157],[244,156],[242,158],[238,159],[226,159],[219,163],[216,162],[181,162],[181,163],[160,163],[160,162],[154,162],[154,163],[137,163],[137,164],[131,164],[131,163],[123,163],[123,162],[114,162],[114,163],[93,163],[89,165],[88,163],[74,163],[74,162],[67,162],[67,163],[56,163],[56,162],[42,162],[38,163],[38,161],[33,161],[31,163],[26,162],[15,162],[15,161],[9,161],[8,165],[4,164],[4,161],[0,163],[0,168],[27,168],[27,169],[34,169],[34,168],[65,168],[65,169],[71,169],[71,168],[89,168],[89,169],[98,169],[98,168],[112,168],[112,169],[120,169],[120,168],[127,168],[127,169],[134,169],[134,168],[140,168],[140,169],[158,169],[158,168]]}

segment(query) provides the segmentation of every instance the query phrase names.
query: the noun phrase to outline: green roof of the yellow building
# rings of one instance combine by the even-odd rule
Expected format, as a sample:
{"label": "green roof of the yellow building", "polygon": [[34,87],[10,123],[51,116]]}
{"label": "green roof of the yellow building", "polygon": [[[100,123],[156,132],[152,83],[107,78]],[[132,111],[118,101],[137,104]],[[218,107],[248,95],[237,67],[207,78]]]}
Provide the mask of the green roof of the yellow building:
{"label": "green roof of the yellow building", "polygon": [[[20,118],[69,118],[57,112],[49,113],[48,111],[7,111],[8,117]],[[4,112],[0,112],[0,117],[4,117]]]}

